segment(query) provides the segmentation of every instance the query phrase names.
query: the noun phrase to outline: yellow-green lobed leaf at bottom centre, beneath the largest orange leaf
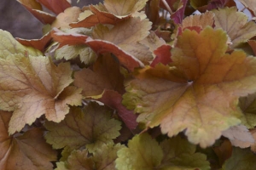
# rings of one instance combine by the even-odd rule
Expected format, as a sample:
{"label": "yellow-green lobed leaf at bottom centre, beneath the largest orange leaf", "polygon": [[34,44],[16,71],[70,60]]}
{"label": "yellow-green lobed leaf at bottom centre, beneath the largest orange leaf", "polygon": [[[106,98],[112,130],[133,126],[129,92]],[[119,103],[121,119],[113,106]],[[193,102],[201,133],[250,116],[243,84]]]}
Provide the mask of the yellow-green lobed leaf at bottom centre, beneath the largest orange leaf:
{"label": "yellow-green lobed leaf at bottom centre, beneath the largest orange leaf", "polygon": [[128,143],[128,148],[118,151],[118,170],[131,169],[210,169],[207,156],[195,153],[195,145],[179,136],[158,144],[148,133],[136,135]]}

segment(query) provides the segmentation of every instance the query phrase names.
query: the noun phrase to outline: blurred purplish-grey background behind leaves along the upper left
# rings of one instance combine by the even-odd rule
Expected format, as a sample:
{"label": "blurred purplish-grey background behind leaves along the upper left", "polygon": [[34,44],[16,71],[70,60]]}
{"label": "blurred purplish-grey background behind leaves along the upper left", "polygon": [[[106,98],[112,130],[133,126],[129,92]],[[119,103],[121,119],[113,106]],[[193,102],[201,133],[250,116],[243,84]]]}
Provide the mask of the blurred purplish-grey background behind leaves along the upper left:
{"label": "blurred purplish-grey background behind leaves along the upper left", "polygon": [[[55,1],[55,0],[53,0]],[[73,0],[73,6],[97,4],[102,0]],[[14,37],[34,39],[42,37],[43,24],[16,0],[0,0],[0,29],[9,31]]]}

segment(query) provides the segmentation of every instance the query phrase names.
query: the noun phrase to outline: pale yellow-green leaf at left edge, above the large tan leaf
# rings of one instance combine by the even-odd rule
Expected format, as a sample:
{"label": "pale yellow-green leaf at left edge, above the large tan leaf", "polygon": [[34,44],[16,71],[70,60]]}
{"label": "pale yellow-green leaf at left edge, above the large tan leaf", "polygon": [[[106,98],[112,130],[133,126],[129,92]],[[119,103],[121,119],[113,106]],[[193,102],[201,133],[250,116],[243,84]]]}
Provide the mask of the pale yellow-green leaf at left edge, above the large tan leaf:
{"label": "pale yellow-green leaf at left edge, above the large tan leaf", "polygon": [[21,45],[8,31],[0,29],[0,58],[5,59],[9,54],[42,55],[38,49]]}

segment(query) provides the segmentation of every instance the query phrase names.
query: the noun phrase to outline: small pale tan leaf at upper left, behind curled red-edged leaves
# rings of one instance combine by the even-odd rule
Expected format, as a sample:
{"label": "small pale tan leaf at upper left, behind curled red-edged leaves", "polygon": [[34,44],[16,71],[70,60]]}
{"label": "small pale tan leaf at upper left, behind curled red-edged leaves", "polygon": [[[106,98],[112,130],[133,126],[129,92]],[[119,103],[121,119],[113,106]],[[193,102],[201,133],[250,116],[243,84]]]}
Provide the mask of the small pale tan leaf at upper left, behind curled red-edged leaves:
{"label": "small pale tan leaf at upper left, behind curled red-edged leaves", "polygon": [[69,24],[78,21],[80,13],[81,9],[79,7],[66,8],[63,13],[58,14],[51,26],[61,29],[71,28]]}

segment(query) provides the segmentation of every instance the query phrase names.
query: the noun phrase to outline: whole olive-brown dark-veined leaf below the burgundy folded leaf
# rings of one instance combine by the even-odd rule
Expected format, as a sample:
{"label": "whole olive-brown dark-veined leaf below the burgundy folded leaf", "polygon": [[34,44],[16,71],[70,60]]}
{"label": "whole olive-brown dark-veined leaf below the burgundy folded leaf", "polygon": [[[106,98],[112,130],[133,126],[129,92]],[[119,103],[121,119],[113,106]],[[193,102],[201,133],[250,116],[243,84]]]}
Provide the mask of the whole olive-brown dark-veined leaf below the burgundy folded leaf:
{"label": "whole olive-brown dark-veined leaf below the burgundy folded leaf", "polygon": [[92,152],[119,136],[121,123],[111,117],[112,112],[97,103],[90,103],[84,109],[73,107],[62,122],[45,123],[49,130],[45,138],[55,149],[68,146],[72,151],[85,145]]}

